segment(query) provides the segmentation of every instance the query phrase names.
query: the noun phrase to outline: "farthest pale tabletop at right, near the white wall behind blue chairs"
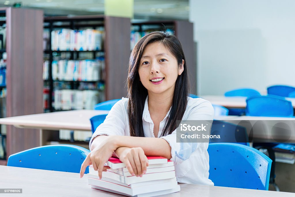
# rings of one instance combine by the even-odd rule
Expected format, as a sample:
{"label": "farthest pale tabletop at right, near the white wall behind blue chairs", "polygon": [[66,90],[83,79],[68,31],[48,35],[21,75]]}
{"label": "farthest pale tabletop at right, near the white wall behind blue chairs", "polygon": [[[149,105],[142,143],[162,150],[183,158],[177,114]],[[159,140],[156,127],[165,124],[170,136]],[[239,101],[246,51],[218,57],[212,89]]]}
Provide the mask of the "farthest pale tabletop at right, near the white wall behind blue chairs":
{"label": "farthest pale tabletop at right, near the white wall behind blue chairs", "polygon": [[[210,101],[212,104],[221,105],[227,108],[245,108],[246,99],[244,96],[212,96],[204,95],[200,96],[207,101]],[[295,98],[286,98],[286,100],[291,101],[293,108],[295,108]]]}

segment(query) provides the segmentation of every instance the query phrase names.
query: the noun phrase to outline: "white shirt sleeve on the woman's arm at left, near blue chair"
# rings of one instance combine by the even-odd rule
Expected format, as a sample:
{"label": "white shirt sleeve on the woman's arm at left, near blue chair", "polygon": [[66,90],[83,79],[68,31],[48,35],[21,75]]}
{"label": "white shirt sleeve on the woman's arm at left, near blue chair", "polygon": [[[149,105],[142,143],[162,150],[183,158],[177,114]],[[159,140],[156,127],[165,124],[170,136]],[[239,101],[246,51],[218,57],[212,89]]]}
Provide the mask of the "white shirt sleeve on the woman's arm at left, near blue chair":
{"label": "white shirt sleeve on the woman's arm at left, near blue chair", "polygon": [[126,114],[122,99],[114,104],[104,122],[96,128],[90,139],[89,148],[93,139],[98,135],[124,135],[125,122]]}

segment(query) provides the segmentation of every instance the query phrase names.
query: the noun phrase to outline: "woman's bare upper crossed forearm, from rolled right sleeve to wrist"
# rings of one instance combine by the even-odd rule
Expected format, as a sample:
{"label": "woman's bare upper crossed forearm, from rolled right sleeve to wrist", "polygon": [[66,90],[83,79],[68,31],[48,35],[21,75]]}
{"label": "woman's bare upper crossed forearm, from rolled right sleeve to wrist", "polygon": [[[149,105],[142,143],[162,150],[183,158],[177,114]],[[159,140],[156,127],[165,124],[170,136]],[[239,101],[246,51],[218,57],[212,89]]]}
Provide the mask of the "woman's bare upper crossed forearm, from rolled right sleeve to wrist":
{"label": "woman's bare upper crossed forearm, from rolled right sleeve to wrist", "polygon": [[130,137],[130,136],[109,136],[116,147],[141,147],[146,156],[162,156],[171,159],[171,147],[163,138],[154,137]]}

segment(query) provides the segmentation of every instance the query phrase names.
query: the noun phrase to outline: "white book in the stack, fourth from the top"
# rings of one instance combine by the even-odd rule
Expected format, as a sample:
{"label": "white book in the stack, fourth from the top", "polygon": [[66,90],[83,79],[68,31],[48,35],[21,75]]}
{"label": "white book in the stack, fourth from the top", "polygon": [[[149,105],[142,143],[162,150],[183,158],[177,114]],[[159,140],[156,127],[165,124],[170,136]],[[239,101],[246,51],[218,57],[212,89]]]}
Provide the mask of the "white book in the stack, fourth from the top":
{"label": "white book in the stack, fourth from the top", "polygon": [[168,178],[174,178],[175,177],[175,171],[169,171],[169,172],[161,172],[161,173],[151,173],[151,174],[144,174],[142,177],[136,177],[136,176],[122,176],[110,171],[102,172],[102,176],[105,178],[110,178],[113,180],[117,180],[121,183],[126,183],[127,185],[130,185],[132,183],[140,183],[150,180],[160,180],[160,179],[168,179]]}

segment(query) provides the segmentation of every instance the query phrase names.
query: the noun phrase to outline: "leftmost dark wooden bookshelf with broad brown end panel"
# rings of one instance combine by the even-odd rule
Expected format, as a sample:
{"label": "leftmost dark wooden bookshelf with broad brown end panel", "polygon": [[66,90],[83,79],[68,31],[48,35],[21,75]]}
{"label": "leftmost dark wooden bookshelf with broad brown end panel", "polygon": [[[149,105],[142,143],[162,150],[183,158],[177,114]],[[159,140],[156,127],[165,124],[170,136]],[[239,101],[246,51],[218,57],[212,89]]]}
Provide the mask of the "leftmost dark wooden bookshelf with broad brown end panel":
{"label": "leftmost dark wooden bookshelf with broad brown end panel", "polygon": [[[32,9],[0,8],[0,26],[6,27],[6,117],[42,113],[42,22],[43,12]],[[0,106],[1,109],[5,106]],[[2,127],[3,128],[3,127]],[[6,126],[7,157],[39,146],[40,132]]]}

